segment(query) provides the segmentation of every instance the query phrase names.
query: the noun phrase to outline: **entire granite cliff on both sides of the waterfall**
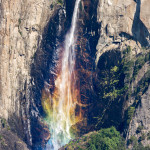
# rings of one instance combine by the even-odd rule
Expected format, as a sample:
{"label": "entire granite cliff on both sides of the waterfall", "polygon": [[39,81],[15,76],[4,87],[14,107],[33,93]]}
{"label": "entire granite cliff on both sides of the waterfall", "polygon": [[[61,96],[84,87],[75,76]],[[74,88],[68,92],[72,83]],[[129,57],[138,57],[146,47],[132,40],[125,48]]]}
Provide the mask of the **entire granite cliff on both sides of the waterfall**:
{"label": "entire granite cliff on both sides of the waterfall", "polygon": [[[52,55],[70,27],[74,3],[0,1],[2,150],[8,145],[36,149],[50,138],[42,119],[41,93]],[[76,125],[79,136],[115,126],[127,147],[132,149],[133,137],[144,146],[150,144],[149,4],[150,0],[81,0],[77,78],[82,104],[88,106],[86,119]]]}

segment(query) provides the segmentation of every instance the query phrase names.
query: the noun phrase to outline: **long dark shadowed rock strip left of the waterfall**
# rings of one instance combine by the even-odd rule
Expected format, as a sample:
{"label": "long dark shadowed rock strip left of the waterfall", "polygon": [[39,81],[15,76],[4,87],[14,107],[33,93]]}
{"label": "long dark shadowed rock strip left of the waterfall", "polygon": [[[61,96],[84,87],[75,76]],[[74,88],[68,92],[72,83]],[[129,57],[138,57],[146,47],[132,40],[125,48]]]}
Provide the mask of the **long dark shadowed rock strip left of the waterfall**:
{"label": "long dark shadowed rock strip left of the waterfall", "polygon": [[[39,119],[41,116],[45,116],[45,112],[41,104],[42,90],[44,89],[44,82],[49,80],[53,53],[59,46],[59,43],[64,39],[64,34],[67,31],[64,26],[65,22],[66,18],[63,8],[57,9],[53,17],[49,20],[47,27],[45,27],[42,42],[39,43],[39,47],[33,57],[34,63],[31,67],[32,82],[34,83],[31,90],[33,95],[33,104],[31,104],[30,107],[33,149],[40,149],[39,147],[41,147],[41,145],[44,146],[45,144],[45,141],[43,140],[43,133],[45,134],[47,132],[44,129],[47,127],[45,127]],[[62,30],[60,31],[61,33],[58,34],[59,25]],[[34,115],[33,113],[35,106],[38,109],[37,115]]]}

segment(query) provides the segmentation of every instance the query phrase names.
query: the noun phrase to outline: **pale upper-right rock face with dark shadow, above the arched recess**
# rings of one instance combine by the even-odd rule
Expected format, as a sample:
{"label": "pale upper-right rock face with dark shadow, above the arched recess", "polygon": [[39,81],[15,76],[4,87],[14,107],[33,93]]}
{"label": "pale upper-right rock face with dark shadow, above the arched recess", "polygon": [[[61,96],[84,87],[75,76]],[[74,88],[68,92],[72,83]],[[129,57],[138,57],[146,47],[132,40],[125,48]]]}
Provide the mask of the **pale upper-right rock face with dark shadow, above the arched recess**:
{"label": "pale upper-right rock face with dark shadow, above the arched recess", "polygon": [[[102,0],[97,9],[100,38],[97,59],[108,50],[120,48],[127,39],[140,46],[149,46],[149,1]],[[126,39],[126,40],[125,40]]]}

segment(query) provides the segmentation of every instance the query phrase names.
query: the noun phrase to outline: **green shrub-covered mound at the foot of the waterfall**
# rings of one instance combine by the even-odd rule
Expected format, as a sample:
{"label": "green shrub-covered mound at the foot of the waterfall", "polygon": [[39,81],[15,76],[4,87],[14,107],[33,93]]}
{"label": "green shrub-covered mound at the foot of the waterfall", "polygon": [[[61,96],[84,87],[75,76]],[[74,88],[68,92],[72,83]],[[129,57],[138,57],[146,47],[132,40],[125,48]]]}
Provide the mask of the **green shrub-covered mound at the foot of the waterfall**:
{"label": "green shrub-covered mound at the foot of the waterfall", "polygon": [[[144,147],[132,136],[128,142],[132,150],[150,150],[149,146]],[[60,150],[127,150],[125,139],[114,127],[90,132],[84,136],[70,141],[69,144]]]}

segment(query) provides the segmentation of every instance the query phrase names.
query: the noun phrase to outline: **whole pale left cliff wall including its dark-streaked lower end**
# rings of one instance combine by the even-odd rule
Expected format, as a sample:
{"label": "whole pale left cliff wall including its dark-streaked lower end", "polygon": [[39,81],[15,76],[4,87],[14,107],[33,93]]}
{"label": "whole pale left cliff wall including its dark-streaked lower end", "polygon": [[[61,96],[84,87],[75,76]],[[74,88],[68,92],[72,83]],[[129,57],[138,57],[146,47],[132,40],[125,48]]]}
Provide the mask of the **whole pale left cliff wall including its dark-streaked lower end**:
{"label": "whole pale left cliff wall including its dark-streaked lower end", "polygon": [[0,1],[0,117],[11,125],[15,122],[13,130],[18,134],[25,129],[26,134],[21,137],[26,137],[29,145],[32,145],[29,111],[31,103],[34,105],[31,64],[56,6],[50,0]]}

